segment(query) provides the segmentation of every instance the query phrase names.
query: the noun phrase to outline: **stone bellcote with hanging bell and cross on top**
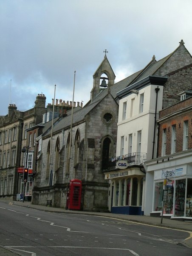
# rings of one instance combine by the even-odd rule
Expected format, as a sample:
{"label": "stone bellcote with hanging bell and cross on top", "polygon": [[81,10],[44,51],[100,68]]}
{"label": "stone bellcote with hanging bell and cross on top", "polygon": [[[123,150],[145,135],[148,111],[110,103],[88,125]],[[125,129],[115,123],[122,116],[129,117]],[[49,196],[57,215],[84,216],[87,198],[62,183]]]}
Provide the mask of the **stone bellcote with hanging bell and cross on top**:
{"label": "stone bellcote with hanging bell and cross on top", "polygon": [[96,72],[93,74],[93,89],[90,92],[91,101],[93,101],[93,99],[95,99],[102,90],[113,85],[116,78],[113,69],[107,59],[106,53],[108,52],[106,49],[103,52],[105,53],[104,59]]}

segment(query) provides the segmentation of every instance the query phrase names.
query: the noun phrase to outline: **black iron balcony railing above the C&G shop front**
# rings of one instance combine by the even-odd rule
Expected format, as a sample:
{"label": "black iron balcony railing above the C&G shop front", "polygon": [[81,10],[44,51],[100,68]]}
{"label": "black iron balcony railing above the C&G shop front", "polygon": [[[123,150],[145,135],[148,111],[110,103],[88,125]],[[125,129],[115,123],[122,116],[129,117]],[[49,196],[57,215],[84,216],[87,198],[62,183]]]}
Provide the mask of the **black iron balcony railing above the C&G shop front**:
{"label": "black iron balcony railing above the C&G shop front", "polygon": [[105,161],[105,163],[102,166],[102,170],[104,171],[104,170],[117,169],[116,163],[119,160],[126,160],[128,163],[128,166],[132,166],[132,165],[141,165],[146,159],[147,159],[147,153],[135,152],[135,153],[125,154],[119,157],[110,158],[108,162]]}

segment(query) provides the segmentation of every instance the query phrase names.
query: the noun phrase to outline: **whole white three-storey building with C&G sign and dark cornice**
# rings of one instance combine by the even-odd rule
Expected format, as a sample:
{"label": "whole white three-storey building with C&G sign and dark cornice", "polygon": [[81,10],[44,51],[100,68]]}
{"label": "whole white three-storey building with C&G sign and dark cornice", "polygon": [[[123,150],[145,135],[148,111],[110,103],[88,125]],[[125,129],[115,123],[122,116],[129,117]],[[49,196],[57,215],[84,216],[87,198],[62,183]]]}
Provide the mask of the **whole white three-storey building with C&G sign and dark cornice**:
{"label": "whole white three-storey building with C&G sign and dark cornice", "polygon": [[156,153],[156,118],[162,109],[167,77],[148,76],[117,93],[119,118],[114,168],[110,180],[111,212],[142,215],[145,171],[143,162]]}

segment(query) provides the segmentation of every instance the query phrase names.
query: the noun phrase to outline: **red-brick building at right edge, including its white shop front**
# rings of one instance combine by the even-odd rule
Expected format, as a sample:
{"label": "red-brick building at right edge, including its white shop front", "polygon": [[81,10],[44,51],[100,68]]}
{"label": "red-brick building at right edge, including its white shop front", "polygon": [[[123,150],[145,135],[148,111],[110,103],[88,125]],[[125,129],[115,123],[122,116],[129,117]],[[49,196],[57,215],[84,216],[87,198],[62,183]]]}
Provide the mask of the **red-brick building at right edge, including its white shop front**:
{"label": "red-brick building at right edge, including its white shop front", "polygon": [[151,214],[192,218],[192,91],[179,94],[181,101],[159,113],[158,158],[145,165],[153,176]]}

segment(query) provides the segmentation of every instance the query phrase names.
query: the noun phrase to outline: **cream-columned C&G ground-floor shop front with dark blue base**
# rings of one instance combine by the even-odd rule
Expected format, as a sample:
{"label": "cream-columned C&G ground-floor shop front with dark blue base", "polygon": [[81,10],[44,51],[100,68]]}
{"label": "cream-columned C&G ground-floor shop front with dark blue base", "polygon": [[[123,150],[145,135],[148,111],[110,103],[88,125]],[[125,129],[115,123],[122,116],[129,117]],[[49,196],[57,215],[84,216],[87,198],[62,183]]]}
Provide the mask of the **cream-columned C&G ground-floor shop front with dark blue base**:
{"label": "cream-columned C&G ground-floor shop front with dark blue base", "polygon": [[105,173],[110,180],[109,210],[113,213],[143,215],[145,173],[138,167]]}

